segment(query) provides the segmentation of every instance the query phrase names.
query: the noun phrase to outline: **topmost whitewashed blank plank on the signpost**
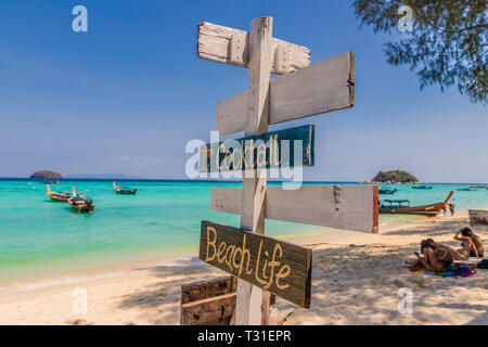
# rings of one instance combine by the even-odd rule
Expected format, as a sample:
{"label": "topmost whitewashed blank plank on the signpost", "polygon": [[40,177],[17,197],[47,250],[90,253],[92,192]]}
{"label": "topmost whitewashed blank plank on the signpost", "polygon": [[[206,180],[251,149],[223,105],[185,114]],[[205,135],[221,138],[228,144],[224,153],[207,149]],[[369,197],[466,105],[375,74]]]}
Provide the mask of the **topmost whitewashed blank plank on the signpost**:
{"label": "topmost whitewashed blank plank on the signpost", "polygon": [[[270,54],[273,57],[269,61],[269,72],[286,74],[310,65],[308,48],[275,38],[271,38],[269,44]],[[248,66],[249,35],[244,30],[208,22],[200,23],[197,54],[209,61]]]}

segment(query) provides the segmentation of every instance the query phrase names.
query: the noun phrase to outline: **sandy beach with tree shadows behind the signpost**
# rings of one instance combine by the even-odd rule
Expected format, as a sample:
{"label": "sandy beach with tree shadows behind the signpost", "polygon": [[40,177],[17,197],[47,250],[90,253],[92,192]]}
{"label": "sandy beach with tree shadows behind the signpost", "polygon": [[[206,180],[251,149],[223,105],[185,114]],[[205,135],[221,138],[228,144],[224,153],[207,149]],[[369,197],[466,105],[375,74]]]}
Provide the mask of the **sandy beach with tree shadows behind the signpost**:
{"label": "sandy beach with tree shadows behind the signpost", "polygon": [[[380,234],[336,232],[301,239],[313,248],[311,308],[295,308],[286,324],[488,324],[488,270],[470,278],[411,273],[422,239],[457,246],[453,218],[393,223]],[[488,244],[488,232],[478,234]],[[293,240],[297,242],[298,240]],[[182,284],[224,275],[197,259],[142,267],[110,279],[0,296],[0,324],[179,324]],[[413,294],[413,312],[398,311],[399,288]],[[81,291],[76,291],[82,288]],[[87,293],[87,312],[74,312]],[[77,296],[78,295],[78,296]]]}

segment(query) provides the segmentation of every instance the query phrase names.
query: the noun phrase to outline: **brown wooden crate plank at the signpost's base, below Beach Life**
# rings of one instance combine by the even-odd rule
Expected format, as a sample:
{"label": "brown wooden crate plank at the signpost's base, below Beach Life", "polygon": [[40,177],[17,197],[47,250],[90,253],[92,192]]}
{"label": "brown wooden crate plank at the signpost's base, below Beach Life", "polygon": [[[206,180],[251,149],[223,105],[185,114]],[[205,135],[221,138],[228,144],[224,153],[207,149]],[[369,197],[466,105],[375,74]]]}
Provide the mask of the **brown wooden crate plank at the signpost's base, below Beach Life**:
{"label": "brown wooden crate plank at the signpost's base, below Beach Life", "polygon": [[181,325],[229,325],[235,311],[236,293],[181,306]]}

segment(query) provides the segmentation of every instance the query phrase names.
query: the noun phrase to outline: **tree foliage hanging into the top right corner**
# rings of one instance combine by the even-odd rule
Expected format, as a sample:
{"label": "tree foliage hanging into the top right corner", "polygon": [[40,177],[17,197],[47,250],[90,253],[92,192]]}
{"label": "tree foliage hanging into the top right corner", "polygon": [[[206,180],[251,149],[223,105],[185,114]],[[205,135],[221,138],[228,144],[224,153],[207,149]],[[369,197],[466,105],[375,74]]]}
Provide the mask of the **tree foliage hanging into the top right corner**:
{"label": "tree foliage hanging into the top right corner", "polygon": [[375,33],[397,29],[401,5],[413,10],[413,30],[385,44],[389,64],[410,65],[420,87],[457,86],[472,102],[487,103],[486,0],[352,0],[361,25]]}

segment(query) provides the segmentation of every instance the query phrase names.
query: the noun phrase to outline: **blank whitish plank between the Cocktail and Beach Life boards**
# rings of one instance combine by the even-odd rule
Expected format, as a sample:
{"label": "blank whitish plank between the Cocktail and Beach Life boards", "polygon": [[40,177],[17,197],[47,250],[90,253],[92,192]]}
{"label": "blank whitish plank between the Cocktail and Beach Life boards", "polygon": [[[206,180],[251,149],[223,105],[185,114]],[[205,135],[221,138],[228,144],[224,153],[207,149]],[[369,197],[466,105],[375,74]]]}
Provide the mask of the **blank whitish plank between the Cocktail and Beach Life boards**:
{"label": "blank whitish plank between the Cocktail and Beach Life boards", "polygon": [[[240,188],[211,189],[211,210],[241,214]],[[266,218],[352,231],[378,230],[376,185],[268,187]]]}

